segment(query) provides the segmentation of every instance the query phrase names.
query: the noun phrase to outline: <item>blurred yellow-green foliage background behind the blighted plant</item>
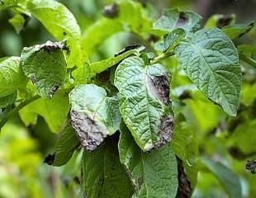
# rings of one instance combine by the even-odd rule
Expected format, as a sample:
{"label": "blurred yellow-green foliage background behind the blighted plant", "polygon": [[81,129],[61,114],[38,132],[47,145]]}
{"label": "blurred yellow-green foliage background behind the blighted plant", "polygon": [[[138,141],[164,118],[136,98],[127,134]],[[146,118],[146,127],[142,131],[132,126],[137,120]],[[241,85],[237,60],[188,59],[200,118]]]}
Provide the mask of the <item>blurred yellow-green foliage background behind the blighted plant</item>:
{"label": "blurred yellow-green foliage background behind the blighted plant", "polygon": [[[63,0],[78,20],[82,31],[86,31],[102,15],[103,7],[111,0]],[[230,15],[235,13],[236,21],[248,24],[256,18],[255,0],[140,0],[151,16],[157,18],[164,8],[180,7],[198,12],[204,17],[202,24],[213,14]],[[132,13],[130,13],[132,14]],[[19,34],[8,22],[13,13],[0,11],[0,57],[20,55],[24,46],[55,40],[35,18],[31,18]],[[106,59],[126,45],[145,40],[130,33],[120,32],[97,46],[89,58],[94,61]],[[256,44],[256,31],[235,44]],[[177,64],[174,59],[166,65]],[[239,114],[230,118],[218,106],[193,91],[191,82],[177,67],[173,71],[174,110],[181,111],[186,125],[192,129],[197,139],[201,156],[215,158],[230,167],[239,176],[244,197],[256,197],[256,176],[245,171],[245,163],[256,156],[256,75],[255,69],[242,64],[244,78]],[[0,85],[1,86],[1,85]],[[188,93],[185,96],[184,90]],[[182,98],[183,97],[183,98]],[[181,99],[182,102],[175,98]],[[1,111],[0,111],[1,117]],[[28,129],[17,116],[10,120],[0,134],[0,198],[20,197],[77,197],[79,192],[79,160],[76,152],[64,167],[50,167],[43,163],[48,153],[53,153],[57,134],[50,132],[45,120],[39,117],[36,125]],[[228,197],[214,175],[207,171],[199,172],[193,197]]]}

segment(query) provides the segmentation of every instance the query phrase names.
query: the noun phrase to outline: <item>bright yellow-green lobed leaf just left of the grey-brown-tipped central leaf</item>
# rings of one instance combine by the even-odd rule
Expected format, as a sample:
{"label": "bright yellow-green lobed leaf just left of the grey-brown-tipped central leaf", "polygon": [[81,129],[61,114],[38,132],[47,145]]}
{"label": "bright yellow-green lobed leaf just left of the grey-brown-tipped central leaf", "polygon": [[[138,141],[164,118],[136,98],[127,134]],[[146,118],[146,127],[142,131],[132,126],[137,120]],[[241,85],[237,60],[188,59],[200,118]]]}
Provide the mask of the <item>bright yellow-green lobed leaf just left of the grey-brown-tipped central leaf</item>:
{"label": "bright yellow-green lobed leaf just left of the grey-brown-tipped central leaf", "polygon": [[36,123],[36,115],[41,115],[54,133],[64,125],[69,113],[69,97],[66,92],[57,92],[52,99],[40,98],[25,106],[19,112],[26,125]]}

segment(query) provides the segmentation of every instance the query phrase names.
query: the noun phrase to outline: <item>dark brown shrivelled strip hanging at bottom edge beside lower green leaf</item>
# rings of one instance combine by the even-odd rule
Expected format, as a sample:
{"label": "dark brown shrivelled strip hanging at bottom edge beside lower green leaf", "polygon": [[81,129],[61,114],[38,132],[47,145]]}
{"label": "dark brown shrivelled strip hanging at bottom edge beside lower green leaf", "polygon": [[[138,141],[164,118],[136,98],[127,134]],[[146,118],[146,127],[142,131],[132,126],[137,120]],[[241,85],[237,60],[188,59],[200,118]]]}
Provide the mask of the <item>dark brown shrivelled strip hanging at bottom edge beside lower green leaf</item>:
{"label": "dark brown shrivelled strip hanging at bottom edge beside lower green leaf", "polygon": [[183,167],[183,162],[177,158],[178,162],[178,192],[177,198],[189,198],[192,196],[192,187],[190,181],[187,179],[187,174]]}

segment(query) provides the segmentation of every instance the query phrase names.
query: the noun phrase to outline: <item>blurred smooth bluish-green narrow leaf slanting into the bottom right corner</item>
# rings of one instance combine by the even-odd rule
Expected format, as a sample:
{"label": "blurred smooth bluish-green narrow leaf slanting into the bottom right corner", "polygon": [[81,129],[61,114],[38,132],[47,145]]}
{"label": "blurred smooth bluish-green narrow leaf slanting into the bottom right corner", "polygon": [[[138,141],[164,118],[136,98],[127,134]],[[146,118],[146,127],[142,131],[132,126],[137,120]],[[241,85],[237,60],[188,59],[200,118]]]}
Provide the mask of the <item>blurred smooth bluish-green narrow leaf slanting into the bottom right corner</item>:
{"label": "blurred smooth bluish-green narrow leaf slanting into the bottom right corner", "polygon": [[224,186],[225,191],[232,198],[240,198],[242,196],[242,187],[239,177],[230,168],[225,167],[221,163],[216,163],[209,158],[201,159],[201,162],[217,177],[220,184]]}

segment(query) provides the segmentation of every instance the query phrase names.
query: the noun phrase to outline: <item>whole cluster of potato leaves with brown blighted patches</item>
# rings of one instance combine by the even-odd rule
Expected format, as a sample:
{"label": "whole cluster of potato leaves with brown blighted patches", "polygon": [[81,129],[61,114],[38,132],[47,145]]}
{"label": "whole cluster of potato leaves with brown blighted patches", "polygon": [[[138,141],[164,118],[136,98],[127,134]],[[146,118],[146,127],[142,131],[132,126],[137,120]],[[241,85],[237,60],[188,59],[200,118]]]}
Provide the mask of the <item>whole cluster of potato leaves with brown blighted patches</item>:
{"label": "whole cluster of potato leaves with brown blighted patches", "polygon": [[[59,2],[2,0],[0,9],[16,13],[10,22],[17,31],[33,16],[57,40],[0,59],[0,127],[17,113],[25,125],[36,125],[42,116],[52,132],[59,132],[55,154],[46,158],[54,166],[67,163],[82,147],[80,196],[191,196],[197,172],[204,169],[231,197],[242,196],[239,178],[230,169],[198,158],[181,100],[170,99],[175,95],[170,66],[159,62],[178,60],[194,89],[235,116],[242,81],[239,58],[254,67],[255,61],[250,58],[254,48],[239,45],[238,52],[232,40],[254,24],[229,22],[220,29],[212,18],[201,28],[201,16],[178,8],[154,21],[139,2],[120,0],[82,35],[73,14]],[[90,63],[93,49],[119,31],[161,39],[150,53],[132,45]]]}

